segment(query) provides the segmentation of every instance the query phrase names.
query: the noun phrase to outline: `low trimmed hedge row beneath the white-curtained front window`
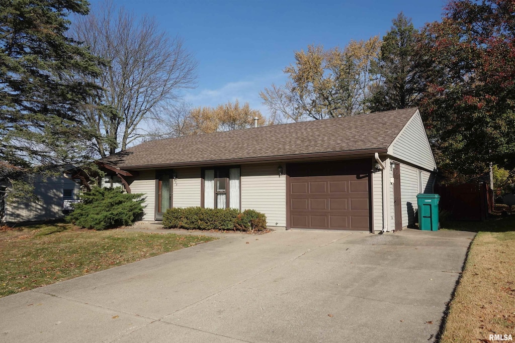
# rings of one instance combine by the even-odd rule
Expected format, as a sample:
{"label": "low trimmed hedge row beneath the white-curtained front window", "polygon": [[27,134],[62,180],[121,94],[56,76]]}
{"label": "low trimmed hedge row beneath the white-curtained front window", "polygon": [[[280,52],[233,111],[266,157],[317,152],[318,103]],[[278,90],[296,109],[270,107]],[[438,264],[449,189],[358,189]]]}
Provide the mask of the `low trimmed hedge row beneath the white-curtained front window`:
{"label": "low trimmed hedge row beneath the white-curtained front window", "polygon": [[266,216],[255,210],[240,212],[228,208],[170,208],[163,214],[163,227],[190,230],[263,231],[266,229]]}

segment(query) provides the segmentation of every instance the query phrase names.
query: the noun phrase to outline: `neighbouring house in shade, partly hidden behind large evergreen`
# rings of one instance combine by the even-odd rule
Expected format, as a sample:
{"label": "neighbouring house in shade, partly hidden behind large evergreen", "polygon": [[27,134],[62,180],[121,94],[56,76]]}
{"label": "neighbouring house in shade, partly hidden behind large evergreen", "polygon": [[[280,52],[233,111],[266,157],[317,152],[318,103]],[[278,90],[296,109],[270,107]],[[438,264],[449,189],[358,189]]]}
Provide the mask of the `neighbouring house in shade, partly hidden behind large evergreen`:
{"label": "neighbouring house in shade, partly hidden behind large evergreen", "polygon": [[[70,173],[73,166],[54,166],[48,174],[25,175],[23,179],[34,187],[38,201],[8,203],[12,190],[9,180],[0,180],[0,223],[39,222],[61,219],[71,210],[70,203],[77,202],[81,181],[79,175]],[[65,173],[65,171],[68,171]]]}

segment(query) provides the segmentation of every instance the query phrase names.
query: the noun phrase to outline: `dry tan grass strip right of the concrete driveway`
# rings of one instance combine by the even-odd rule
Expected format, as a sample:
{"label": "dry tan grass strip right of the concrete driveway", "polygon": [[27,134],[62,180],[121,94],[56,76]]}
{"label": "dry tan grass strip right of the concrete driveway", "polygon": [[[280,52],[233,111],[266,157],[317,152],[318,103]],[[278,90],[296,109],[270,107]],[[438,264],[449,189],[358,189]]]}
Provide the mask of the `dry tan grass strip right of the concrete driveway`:
{"label": "dry tan grass strip right of the concrete driveway", "polygon": [[444,228],[478,232],[440,342],[489,342],[490,334],[515,339],[515,215]]}

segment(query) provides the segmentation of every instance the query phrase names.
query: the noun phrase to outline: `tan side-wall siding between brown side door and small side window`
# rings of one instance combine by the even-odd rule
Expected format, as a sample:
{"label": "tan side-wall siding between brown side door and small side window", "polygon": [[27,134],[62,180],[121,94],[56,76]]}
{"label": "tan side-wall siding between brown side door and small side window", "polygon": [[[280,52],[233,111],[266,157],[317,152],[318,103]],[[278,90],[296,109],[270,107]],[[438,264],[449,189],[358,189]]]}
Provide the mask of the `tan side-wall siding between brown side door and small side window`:
{"label": "tan side-wall siding between brown side door and small side window", "polygon": [[415,224],[418,190],[418,169],[401,164],[402,227]]}

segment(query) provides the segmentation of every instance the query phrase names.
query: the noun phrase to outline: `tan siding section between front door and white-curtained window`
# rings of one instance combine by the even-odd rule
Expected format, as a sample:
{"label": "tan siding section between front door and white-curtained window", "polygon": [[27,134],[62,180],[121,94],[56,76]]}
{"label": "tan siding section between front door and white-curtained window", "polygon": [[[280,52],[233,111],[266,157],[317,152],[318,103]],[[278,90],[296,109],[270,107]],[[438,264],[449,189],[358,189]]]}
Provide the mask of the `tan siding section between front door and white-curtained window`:
{"label": "tan siding section between front door and white-curtained window", "polygon": [[174,207],[200,206],[200,168],[177,169],[174,180]]}

